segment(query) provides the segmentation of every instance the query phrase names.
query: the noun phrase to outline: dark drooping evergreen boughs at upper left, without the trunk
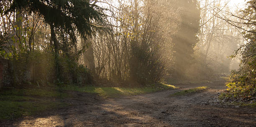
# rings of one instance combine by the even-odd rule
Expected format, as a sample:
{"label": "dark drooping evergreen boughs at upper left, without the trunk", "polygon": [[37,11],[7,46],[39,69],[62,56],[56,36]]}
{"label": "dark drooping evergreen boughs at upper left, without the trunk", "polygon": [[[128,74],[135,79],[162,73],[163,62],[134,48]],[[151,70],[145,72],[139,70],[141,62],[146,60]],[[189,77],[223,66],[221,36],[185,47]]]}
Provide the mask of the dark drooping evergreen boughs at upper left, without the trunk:
{"label": "dark drooping evergreen boughs at upper left, without the trunk", "polygon": [[103,22],[104,16],[103,9],[89,0],[12,0],[7,12],[25,9],[43,16],[49,25],[71,32],[76,29],[81,35],[90,35],[90,21]]}

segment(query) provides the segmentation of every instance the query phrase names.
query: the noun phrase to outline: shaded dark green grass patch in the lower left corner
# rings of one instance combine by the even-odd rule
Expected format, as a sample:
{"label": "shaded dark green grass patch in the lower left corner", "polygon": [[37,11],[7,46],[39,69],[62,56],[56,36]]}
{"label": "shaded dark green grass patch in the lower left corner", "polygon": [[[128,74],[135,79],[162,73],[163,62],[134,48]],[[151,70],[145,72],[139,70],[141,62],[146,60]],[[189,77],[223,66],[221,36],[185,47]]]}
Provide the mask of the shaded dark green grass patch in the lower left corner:
{"label": "shaded dark green grass patch in the lower left corner", "polygon": [[68,97],[67,93],[59,90],[3,88],[0,90],[0,120],[66,106],[66,103],[54,101],[54,98],[63,97]]}

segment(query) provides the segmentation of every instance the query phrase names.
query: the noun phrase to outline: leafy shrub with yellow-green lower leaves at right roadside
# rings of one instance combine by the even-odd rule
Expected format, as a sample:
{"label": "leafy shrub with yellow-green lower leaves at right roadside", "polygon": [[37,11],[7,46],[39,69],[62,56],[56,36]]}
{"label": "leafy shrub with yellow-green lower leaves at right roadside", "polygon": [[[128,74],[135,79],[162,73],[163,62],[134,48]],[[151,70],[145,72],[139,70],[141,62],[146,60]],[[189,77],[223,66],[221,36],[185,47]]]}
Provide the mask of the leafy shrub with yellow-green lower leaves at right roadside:
{"label": "leafy shrub with yellow-green lower leaves at right roadside", "polygon": [[[253,34],[254,36],[254,34]],[[253,37],[248,36],[248,37]],[[243,46],[241,65],[226,78],[227,90],[234,98],[254,100],[256,98],[256,42],[251,40]]]}

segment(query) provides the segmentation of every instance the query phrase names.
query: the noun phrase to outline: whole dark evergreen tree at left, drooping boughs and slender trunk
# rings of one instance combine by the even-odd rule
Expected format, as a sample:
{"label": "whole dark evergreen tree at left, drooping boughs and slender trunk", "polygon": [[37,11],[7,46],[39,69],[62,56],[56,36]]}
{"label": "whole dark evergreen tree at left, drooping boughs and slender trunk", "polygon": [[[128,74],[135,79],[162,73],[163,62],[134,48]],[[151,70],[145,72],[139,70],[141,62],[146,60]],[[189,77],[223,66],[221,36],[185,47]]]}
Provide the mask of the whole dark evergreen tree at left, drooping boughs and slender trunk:
{"label": "whole dark evergreen tree at left, drooping boughs and slender trunk", "polygon": [[[92,30],[95,30],[93,23],[103,23],[103,9],[89,0],[10,0],[10,8],[5,12],[26,12],[38,14],[44,18],[44,21],[49,24],[51,30],[50,46],[54,51],[56,78],[61,78],[61,63],[59,60],[61,47],[76,44],[76,34],[78,31],[82,37],[91,35]],[[18,11],[17,11],[18,10]],[[93,22],[93,23],[92,23]],[[56,30],[63,31],[69,36],[72,43],[61,46],[57,40]],[[63,41],[67,43],[67,41]]]}

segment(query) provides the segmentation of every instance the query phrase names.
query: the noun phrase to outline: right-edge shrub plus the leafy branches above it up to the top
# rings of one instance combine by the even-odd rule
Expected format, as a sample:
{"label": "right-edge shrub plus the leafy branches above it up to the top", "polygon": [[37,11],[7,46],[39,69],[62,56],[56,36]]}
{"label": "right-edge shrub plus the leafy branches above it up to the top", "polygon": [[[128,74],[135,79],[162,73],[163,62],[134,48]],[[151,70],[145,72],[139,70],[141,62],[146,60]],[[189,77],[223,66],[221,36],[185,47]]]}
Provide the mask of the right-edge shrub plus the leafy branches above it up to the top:
{"label": "right-edge shrub plus the leafy branches above it up to the top", "polygon": [[[254,100],[256,99],[256,33],[255,33],[255,14],[256,9],[253,7],[255,0],[249,0],[247,2],[248,7],[242,10],[243,28],[246,32],[243,32],[244,38],[247,42],[242,45],[231,57],[237,55],[241,56],[240,68],[226,78],[226,86],[228,90],[228,97],[242,100]],[[253,5],[253,6],[252,6]],[[241,52],[239,54],[239,52]]]}

